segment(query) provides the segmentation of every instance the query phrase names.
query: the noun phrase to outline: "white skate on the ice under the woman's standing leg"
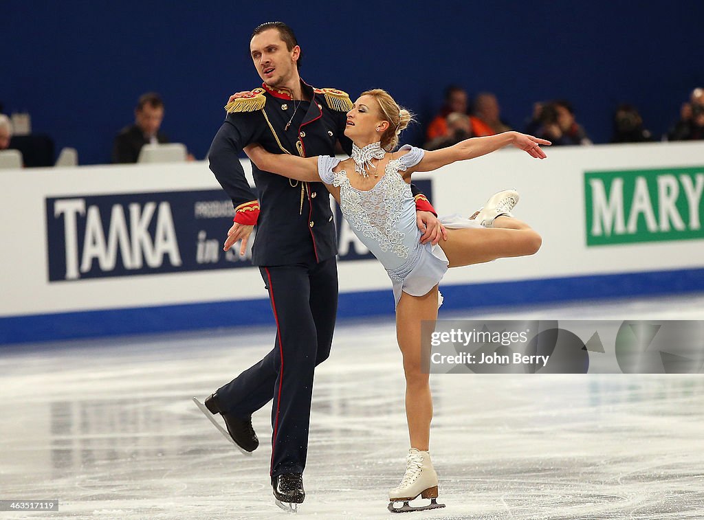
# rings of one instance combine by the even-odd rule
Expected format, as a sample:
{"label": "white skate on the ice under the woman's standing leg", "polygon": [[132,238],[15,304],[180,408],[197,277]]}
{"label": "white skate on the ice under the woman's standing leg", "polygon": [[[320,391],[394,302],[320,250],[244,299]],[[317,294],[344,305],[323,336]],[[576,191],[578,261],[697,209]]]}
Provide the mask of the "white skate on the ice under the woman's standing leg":
{"label": "white skate on the ice under the woman's standing leg", "polygon": [[[432,462],[430,462],[429,453],[410,448],[406,459],[408,460],[406,474],[403,475],[401,483],[389,491],[389,511],[392,513],[405,513],[445,507],[444,504],[436,502],[438,497],[438,476],[435,473]],[[417,507],[408,505],[408,502],[418,495],[421,498],[429,498],[430,504]],[[403,502],[403,505],[394,507],[395,502]]]}

